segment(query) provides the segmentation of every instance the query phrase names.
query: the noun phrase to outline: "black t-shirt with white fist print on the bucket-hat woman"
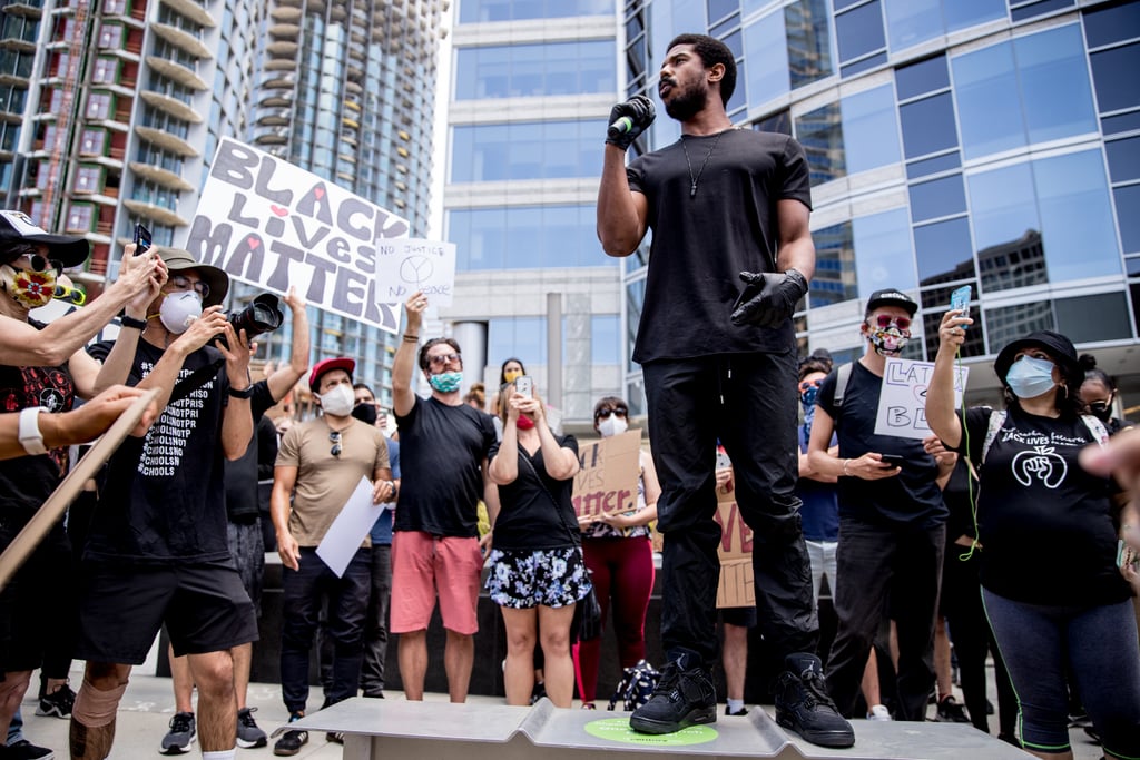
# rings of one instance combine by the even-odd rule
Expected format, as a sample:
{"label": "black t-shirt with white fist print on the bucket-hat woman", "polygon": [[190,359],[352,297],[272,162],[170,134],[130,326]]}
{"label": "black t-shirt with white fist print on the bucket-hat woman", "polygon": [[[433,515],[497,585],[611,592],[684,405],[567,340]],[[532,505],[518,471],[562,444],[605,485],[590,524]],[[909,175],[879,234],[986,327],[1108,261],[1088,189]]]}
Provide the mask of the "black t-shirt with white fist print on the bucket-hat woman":
{"label": "black t-shirt with white fist print on the bucket-hat woman", "polygon": [[[993,411],[992,414],[1000,414]],[[1131,596],[1116,569],[1109,480],[1077,463],[1096,439],[1082,419],[1039,417],[1011,408],[982,461],[991,409],[966,414],[966,434],[982,489],[978,538],[982,585],[1009,599],[1100,605]]]}

